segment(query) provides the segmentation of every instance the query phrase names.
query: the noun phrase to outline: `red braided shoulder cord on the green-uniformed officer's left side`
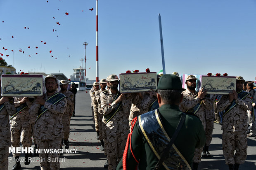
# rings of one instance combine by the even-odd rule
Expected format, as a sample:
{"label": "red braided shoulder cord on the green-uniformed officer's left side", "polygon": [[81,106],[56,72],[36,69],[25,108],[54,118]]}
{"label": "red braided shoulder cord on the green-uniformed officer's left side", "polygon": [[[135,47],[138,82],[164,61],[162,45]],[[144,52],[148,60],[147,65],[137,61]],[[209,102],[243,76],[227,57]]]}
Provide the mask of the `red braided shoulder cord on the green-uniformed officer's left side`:
{"label": "red braided shoulder cord on the green-uniformed officer's left side", "polygon": [[[139,163],[139,161],[137,161],[137,159],[135,158],[135,155],[133,154],[133,150],[132,150],[132,133],[133,133],[133,128],[134,128],[134,125],[137,121],[137,117],[135,117],[131,123],[131,129],[130,129],[130,133],[128,134],[128,137],[127,137],[127,141],[126,141],[126,147],[124,149],[124,152],[123,152],[123,170],[126,170],[126,158],[127,158],[127,155],[128,155],[128,148],[129,148],[129,144],[130,144],[130,151],[133,155],[133,158],[135,159],[135,161],[137,163]],[[137,170],[137,166],[135,168],[135,170]]]}

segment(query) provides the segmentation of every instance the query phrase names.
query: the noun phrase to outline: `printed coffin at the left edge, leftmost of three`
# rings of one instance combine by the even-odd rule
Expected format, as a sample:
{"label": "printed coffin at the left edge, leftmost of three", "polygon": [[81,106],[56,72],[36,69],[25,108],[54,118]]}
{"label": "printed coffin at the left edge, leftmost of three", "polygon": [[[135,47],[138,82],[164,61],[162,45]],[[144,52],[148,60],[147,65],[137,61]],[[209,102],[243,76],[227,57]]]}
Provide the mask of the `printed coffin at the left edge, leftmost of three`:
{"label": "printed coffin at the left edge, leftmost of three", "polygon": [[2,96],[39,96],[43,88],[43,75],[1,75]]}

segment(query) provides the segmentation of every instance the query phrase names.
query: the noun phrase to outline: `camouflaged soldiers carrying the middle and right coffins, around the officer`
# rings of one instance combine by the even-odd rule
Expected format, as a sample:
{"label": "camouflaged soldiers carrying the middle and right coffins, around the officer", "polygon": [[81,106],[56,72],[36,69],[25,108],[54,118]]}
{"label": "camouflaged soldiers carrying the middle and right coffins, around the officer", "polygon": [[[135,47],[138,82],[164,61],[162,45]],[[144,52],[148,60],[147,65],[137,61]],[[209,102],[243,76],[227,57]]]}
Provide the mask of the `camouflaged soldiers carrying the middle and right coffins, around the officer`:
{"label": "camouflaged soldiers carrying the middle and right coffins, around the officer", "polygon": [[[173,74],[179,77],[177,72]],[[157,77],[159,80],[161,74]],[[209,95],[204,88],[197,92],[196,80],[194,75],[186,77],[187,89],[183,89],[183,100],[179,106],[182,112],[200,119],[206,136],[206,140],[202,142],[203,146],[195,148],[190,166],[197,170],[201,158],[212,157],[209,146],[215,120],[214,112],[223,112],[222,140],[225,163],[230,170],[238,170],[239,165],[244,163],[247,157],[247,111],[254,110],[253,96],[242,91],[244,79],[240,76],[237,77],[236,90],[222,96]],[[90,90],[97,139],[101,141],[101,150],[104,150],[107,156],[104,168],[109,170],[115,170],[119,162],[121,163],[118,168],[122,169],[120,164],[133,119],[159,108],[156,92],[120,93],[117,89],[118,84],[119,78],[116,75],[109,75],[99,83],[94,82]],[[217,97],[220,100],[217,100]]]}

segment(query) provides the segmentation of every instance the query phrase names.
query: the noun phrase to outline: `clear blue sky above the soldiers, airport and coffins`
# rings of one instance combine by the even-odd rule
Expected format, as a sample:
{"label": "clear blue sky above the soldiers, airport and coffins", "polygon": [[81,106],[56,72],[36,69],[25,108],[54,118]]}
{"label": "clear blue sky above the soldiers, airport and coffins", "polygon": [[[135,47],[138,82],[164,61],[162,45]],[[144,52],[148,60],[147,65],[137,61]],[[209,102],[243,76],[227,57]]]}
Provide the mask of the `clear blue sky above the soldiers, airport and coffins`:
{"label": "clear blue sky above the soldiers, airport and coffins", "polygon": [[[98,7],[99,79],[159,72],[159,13],[167,74],[256,77],[255,0],[98,0]],[[13,65],[14,50],[17,72],[60,71],[69,78],[81,66],[86,41],[86,77],[95,79],[95,32],[96,0],[0,0],[0,53]]]}

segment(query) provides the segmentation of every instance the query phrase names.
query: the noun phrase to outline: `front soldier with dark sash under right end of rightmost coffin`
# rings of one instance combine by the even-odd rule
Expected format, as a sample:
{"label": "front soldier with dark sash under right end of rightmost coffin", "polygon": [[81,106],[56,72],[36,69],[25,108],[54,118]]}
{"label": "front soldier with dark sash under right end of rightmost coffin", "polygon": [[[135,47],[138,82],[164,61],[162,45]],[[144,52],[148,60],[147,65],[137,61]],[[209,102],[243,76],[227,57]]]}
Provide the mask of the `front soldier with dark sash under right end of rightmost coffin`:
{"label": "front soldier with dark sash under right end of rightmost coffin", "polygon": [[247,157],[247,110],[252,108],[252,104],[250,94],[242,91],[243,82],[243,77],[238,76],[236,91],[223,95],[217,103],[218,112],[225,110],[221,127],[222,147],[230,170],[238,170]]}

